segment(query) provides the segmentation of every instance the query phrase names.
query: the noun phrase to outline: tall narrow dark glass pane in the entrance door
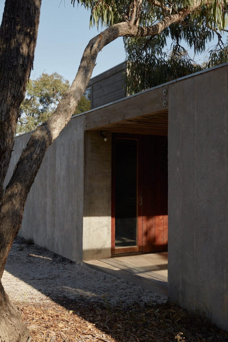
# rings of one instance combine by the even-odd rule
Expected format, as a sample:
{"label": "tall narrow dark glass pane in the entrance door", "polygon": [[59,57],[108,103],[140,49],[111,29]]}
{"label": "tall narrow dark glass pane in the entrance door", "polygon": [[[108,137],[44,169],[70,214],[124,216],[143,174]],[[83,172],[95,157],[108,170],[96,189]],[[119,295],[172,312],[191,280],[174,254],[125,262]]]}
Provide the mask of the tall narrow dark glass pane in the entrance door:
{"label": "tall narrow dark glass pane in the entrance door", "polygon": [[138,141],[116,139],[115,247],[137,246]]}

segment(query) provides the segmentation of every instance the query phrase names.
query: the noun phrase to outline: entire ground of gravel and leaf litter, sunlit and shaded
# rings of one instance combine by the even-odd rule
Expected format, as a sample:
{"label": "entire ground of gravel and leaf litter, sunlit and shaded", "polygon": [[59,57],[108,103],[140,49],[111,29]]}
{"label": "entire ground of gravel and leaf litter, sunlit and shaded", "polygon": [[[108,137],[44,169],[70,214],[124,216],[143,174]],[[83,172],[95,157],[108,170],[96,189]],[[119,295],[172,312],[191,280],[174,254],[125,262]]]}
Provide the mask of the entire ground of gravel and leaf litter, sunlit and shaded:
{"label": "entire ground of gravel and leaf litter, sunlit and shaded", "polygon": [[13,244],[3,286],[21,308],[33,342],[228,341],[203,316],[21,238]]}

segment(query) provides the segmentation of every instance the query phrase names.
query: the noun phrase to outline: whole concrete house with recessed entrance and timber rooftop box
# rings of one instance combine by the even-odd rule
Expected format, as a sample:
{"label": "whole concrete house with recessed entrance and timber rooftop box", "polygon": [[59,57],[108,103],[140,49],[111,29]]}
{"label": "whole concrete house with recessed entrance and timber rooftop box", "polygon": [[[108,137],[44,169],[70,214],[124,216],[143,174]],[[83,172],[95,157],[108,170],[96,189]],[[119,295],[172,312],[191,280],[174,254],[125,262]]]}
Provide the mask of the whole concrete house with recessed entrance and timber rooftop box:
{"label": "whole concrete house with recessed entrance and timber rooftop box", "polygon": [[48,149],[20,236],[75,262],[168,244],[170,300],[228,330],[228,64],[128,97],[124,68],[91,79],[92,109]]}

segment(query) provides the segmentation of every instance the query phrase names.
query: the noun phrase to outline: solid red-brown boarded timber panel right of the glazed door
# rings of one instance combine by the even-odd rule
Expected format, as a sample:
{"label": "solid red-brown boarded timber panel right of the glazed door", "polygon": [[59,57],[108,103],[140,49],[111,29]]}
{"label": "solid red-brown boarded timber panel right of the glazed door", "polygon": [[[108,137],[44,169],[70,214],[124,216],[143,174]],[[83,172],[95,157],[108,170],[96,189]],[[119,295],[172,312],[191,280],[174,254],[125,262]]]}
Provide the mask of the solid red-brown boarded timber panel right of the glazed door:
{"label": "solid red-brown boarded timber panel right of the glazed door", "polygon": [[168,247],[168,142],[143,137],[143,252]]}

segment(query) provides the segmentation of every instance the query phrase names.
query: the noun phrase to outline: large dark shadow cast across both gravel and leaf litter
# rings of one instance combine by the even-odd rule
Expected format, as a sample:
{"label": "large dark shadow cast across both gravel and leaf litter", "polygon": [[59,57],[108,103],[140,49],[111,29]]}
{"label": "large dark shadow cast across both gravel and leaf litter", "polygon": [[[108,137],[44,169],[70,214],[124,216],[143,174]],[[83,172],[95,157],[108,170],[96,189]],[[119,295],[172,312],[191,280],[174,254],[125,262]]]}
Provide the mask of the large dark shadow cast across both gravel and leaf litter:
{"label": "large dark shadow cast across both gravel and leaf litter", "polygon": [[[28,245],[19,237],[5,270],[31,286],[26,288],[25,301],[32,302],[32,295],[39,295],[32,292],[37,289],[117,341],[175,341],[179,332],[183,332],[186,342],[228,341],[228,334],[212,326],[203,316],[191,315],[170,303],[153,303],[152,293],[115,277],[110,281],[109,275],[93,269],[88,271],[84,264],[76,265],[41,247]],[[15,290],[17,286],[15,283]],[[15,301],[23,302],[23,298]]]}

